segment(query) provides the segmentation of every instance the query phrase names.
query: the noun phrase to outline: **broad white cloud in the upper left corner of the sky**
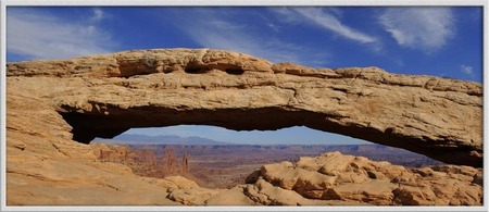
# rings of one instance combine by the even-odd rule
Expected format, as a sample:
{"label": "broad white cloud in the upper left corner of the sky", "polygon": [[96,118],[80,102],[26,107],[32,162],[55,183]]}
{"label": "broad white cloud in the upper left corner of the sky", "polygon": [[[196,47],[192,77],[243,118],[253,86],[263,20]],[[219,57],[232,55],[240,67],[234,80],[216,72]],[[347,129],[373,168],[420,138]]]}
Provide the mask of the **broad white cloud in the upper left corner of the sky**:
{"label": "broad white cloud in the upper left corner of the sky", "polygon": [[[93,18],[103,12],[93,10]],[[111,52],[111,36],[93,23],[61,18],[30,9],[7,12],[7,51],[23,60],[65,59]]]}

